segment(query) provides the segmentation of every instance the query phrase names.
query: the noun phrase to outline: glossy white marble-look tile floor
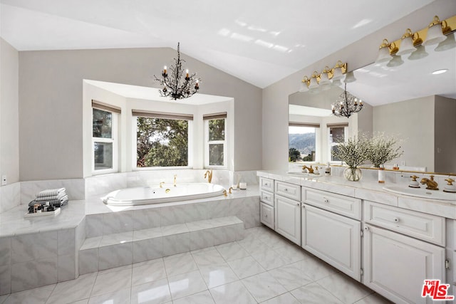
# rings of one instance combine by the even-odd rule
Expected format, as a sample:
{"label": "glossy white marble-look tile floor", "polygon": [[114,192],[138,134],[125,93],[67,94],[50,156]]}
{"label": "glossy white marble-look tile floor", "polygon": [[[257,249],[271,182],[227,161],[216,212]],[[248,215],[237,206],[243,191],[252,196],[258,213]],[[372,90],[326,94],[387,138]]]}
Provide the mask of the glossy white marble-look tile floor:
{"label": "glossy white marble-look tile floor", "polygon": [[245,239],[0,296],[10,303],[389,303],[265,227]]}

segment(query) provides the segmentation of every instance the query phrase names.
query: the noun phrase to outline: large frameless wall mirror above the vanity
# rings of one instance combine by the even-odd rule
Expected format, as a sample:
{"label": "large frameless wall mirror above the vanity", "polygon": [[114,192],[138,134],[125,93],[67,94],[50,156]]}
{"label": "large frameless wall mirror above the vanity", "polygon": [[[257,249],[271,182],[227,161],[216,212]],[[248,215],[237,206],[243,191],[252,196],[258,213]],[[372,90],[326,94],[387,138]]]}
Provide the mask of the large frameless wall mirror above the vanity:
{"label": "large frameless wall mirror above the vanity", "polygon": [[365,107],[348,119],[331,114],[331,103],[343,92],[343,86],[289,95],[290,145],[304,145],[308,139],[294,132],[314,127],[315,149],[306,160],[326,163],[336,161],[331,159],[335,135],[383,132],[401,141],[404,154],[393,160],[399,167],[455,173],[456,49],[434,48],[427,47],[429,55],[420,60],[403,56],[404,63],[396,67],[373,63],[354,70],[356,81],[348,83],[347,90],[361,98]]}

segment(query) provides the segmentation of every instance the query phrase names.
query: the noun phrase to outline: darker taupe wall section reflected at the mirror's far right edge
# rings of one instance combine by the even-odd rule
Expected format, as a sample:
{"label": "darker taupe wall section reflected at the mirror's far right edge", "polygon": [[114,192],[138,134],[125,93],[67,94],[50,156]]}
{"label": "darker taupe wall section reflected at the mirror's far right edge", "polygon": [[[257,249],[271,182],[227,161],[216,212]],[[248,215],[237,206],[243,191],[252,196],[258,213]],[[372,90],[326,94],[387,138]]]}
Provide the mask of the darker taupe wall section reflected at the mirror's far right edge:
{"label": "darker taupe wall section reflected at the mirror's far right edge", "polygon": [[456,172],[456,100],[435,96],[435,172]]}

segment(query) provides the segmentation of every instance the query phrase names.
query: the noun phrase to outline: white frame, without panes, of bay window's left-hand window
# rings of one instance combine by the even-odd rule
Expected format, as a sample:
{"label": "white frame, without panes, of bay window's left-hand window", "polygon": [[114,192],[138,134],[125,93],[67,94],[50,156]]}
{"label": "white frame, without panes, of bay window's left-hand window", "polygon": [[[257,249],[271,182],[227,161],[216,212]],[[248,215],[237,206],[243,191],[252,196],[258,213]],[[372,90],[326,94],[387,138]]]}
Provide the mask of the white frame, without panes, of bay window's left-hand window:
{"label": "white frame, without panes, of bay window's left-hand window", "polygon": [[[116,108],[110,108],[108,106],[103,106],[99,103],[92,103],[92,125],[93,125],[93,110],[101,110],[104,112],[109,112],[111,114],[111,138],[106,137],[93,137],[92,132],[92,148],[91,148],[91,157],[92,157],[92,174],[108,174],[115,173],[119,171],[119,115],[120,111]],[[95,169],[95,143],[111,143],[113,144],[113,166],[108,169]]]}

